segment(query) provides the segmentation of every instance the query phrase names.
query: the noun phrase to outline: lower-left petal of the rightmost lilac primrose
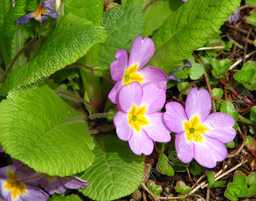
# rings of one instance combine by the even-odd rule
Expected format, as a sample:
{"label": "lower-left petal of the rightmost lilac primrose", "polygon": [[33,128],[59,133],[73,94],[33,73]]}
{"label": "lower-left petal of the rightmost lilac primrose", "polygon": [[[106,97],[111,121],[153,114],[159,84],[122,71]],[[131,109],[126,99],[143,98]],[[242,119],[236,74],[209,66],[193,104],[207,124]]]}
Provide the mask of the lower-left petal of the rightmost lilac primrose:
{"label": "lower-left petal of the rightmost lilac primrose", "polygon": [[175,135],[175,149],[176,149],[178,158],[183,163],[188,163],[192,161],[194,156],[194,145],[186,137],[185,132],[178,133]]}

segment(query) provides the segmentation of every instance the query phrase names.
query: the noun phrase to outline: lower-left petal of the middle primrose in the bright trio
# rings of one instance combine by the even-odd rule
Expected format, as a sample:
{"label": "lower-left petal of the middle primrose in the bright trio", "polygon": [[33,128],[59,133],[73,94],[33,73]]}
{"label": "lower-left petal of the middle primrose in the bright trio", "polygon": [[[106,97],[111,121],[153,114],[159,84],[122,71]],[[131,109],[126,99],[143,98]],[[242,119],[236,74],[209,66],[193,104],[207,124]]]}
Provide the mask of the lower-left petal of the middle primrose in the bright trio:
{"label": "lower-left petal of the middle primrose in the bright trio", "polygon": [[124,141],[128,141],[133,133],[133,128],[128,124],[128,113],[118,111],[114,115],[114,125],[117,136]]}

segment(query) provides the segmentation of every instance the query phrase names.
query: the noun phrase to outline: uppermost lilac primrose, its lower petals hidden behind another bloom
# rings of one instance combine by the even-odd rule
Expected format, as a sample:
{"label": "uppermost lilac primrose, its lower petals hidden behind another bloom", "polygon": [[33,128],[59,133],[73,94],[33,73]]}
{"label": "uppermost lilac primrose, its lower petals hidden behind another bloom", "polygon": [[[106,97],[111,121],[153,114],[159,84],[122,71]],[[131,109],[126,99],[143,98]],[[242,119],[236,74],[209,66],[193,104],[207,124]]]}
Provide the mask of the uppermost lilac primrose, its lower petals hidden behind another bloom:
{"label": "uppermost lilac primrose, its lower petals hidden behind another bloom", "polygon": [[162,70],[150,65],[142,69],[154,52],[154,42],[150,38],[142,40],[141,35],[135,38],[130,48],[129,60],[126,50],[120,49],[116,52],[115,57],[117,60],[111,63],[110,72],[112,79],[117,82],[108,94],[108,98],[114,104],[118,104],[118,93],[121,87],[134,81],[139,82],[142,86],[149,82],[155,82],[158,88],[166,91],[168,78]]}

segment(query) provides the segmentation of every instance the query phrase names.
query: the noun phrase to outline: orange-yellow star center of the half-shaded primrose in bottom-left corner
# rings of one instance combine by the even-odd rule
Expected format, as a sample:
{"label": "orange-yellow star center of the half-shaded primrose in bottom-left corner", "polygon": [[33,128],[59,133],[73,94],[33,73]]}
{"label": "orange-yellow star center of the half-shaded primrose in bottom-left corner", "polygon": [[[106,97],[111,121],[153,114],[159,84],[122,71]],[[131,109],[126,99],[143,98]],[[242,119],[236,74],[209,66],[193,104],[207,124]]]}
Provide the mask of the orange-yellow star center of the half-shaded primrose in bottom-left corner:
{"label": "orange-yellow star center of the half-shaded primrose in bottom-left corner", "polygon": [[26,194],[26,186],[24,182],[17,181],[16,179],[20,179],[14,172],[8,171],[7,177],[9,178],[3,188],[11,191],[12,199],[15,200],[16,197],[21,194]]}

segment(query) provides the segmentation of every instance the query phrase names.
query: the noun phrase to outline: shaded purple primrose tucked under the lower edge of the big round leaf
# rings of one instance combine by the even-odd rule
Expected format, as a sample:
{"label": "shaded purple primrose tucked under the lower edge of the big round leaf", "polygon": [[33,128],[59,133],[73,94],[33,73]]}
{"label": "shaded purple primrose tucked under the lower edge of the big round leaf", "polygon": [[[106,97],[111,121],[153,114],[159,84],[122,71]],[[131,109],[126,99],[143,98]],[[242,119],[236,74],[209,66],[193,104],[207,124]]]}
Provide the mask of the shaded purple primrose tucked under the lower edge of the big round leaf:
{"label": "shaded purple primrose tucked under the lower edge of the big round leaf", "polygon": [[18,179],[19,181],[39,181],[41,186],[50,195],[54,193],[65,193],[66,189],[86,189],[89,182],[75,176],[59,177],[59,176],[49,176],[48,174],[43,174],[35,172],[30,176]]}

